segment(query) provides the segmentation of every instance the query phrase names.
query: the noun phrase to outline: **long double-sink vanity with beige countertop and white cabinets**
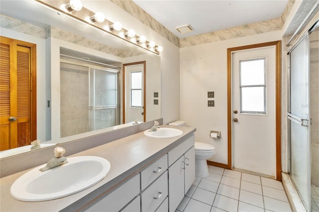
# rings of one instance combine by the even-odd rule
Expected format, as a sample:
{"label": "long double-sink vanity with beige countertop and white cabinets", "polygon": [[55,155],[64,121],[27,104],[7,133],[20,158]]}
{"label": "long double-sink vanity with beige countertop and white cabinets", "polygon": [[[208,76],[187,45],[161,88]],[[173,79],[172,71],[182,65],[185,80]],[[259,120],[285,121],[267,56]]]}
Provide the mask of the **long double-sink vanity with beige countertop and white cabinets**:
{"label": "long double-sink vanity with beige countertop and white cabinets", "polygon": [[[146,124],[145,127],[149,125]],[[195,179],[194,132],[196,129],[161,125],[155,131],[156,133],[148,134],[145,132],[145,127],[142,124],[137,133],[131,130],[132,133],[129,135],[123,133],[125,137],[67,155],[70,162],[65,164],[66,168],[68,164],[74,164],[72,158],[85,159],[86,156],[106,159],[110,164],[105,178],[72,195],[46,201],[19,201],[10,195],[10,187],[20,180],[22,175],[32,172],[34,167],[2,177],[0,211],[174,212]],[[123,128],[113,133],[121,134],[125,130]],[[105,136],[108,136],[108,133],[105,133]],[[93,142],[94,139],[95,137],[92,136],[86,142],[90,140]],[[65,149],[68,151],[67,147]],[[64,168],[62,166],[54,169]],[[93,172],[94,170],[90,170],[89,166],[80,165],[73,169],[82,169],[79,173],[83,170],[83,173]],[[57,184],[56,188],[62,190],[59,182],[61,185],[71,183],[72,179],[76,182],[76,178],[83,175],[85,174],[73,174],[70,177],[65,175],[62,178],[53,176],[54,183],[50,181],[50,178],[45,180],[48,181],[49,188],[52,189],[54,184]],[[37,192],[46,193],[44,188],[41,190],[41,186],[39,188],[36,185],[36,182],[37,180],[33,180],[31,188],[38,190]],[[38,182],[43,183],[43,181]],[[25,188],[21,187],[21,190],[23,189]]]}

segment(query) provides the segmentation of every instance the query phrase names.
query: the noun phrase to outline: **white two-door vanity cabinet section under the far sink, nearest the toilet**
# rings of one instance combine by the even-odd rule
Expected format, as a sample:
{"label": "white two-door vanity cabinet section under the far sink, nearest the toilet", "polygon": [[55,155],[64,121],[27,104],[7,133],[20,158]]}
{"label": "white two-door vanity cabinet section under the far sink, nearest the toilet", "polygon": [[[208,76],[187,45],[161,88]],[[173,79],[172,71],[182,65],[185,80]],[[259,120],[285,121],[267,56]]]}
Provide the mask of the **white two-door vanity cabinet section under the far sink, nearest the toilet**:
{"label": "white two-door vanity cabinet section under the far sink, nearest the toilet", "polygon": [[[191,136],[185,142],[168,152],[169,212],[176,210],[195,180],[194,142],[194,136]],[[174,161],[177,156],[179,156],[179,158]],[[169,160],[169,158],[171,158],[171,160]]]}

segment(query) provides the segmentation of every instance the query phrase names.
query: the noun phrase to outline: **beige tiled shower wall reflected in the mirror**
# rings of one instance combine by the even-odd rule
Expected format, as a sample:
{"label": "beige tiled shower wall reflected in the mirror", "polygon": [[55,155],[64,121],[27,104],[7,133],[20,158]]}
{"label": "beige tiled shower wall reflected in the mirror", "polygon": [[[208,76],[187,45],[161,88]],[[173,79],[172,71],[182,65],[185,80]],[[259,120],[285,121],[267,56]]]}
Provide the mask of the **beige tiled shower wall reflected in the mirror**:
{"label": "beige tiled shower wall reflected in the mirror", "polygon": [[61,137],[88,132],[88,68],[61,63]]}

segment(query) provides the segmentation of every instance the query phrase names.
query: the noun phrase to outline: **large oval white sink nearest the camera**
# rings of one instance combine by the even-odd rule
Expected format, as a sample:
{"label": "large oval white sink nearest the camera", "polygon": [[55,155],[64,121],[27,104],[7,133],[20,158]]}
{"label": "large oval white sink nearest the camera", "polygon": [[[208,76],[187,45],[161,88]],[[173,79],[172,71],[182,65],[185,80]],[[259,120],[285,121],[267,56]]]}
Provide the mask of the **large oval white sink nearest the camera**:
{"label": "large oval white sink nearest the camera", "polygon": [[38,166],[11,186],[13,198],[27,202],[54,200],[83,191],[100,182],[110,172],[108,160],[95,156],[67,158],[68,163],[45,172]]}

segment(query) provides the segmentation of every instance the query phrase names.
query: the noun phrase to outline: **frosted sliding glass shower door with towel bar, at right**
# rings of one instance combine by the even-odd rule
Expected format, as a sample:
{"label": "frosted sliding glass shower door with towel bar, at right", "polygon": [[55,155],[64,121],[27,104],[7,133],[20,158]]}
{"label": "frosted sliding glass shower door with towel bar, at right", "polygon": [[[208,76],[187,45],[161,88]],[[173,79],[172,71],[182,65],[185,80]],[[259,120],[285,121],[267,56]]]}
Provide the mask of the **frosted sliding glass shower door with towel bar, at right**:
{"label": "frosted sliding glass shower door with towel bar, at right", "polygon": [[306,209],[310,209],[309,40],[306,35],[289,52],[290,175]]}

